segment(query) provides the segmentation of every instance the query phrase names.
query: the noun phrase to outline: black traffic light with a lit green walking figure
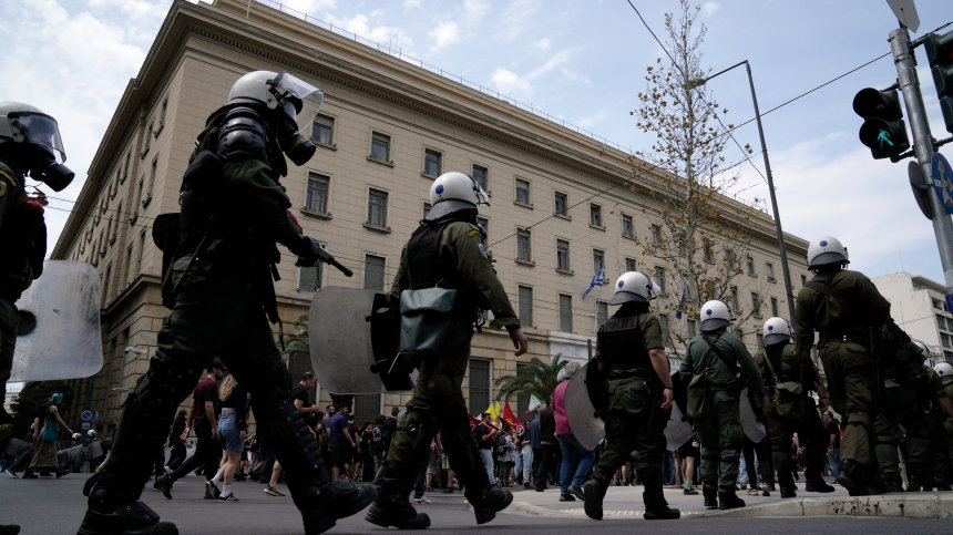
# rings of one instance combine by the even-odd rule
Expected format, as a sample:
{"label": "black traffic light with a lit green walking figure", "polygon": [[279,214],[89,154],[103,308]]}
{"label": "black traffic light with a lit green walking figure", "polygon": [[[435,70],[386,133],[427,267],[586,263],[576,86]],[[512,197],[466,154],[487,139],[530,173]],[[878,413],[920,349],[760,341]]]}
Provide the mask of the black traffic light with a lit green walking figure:
{"label": "black traffic light with a lit green walking figure", "polygon": [[870,147],[874,160],[893,158],[910,148],[895,89],[861,90],[853,97],[853,111],[865,120],[860,127],[860,142]]}

